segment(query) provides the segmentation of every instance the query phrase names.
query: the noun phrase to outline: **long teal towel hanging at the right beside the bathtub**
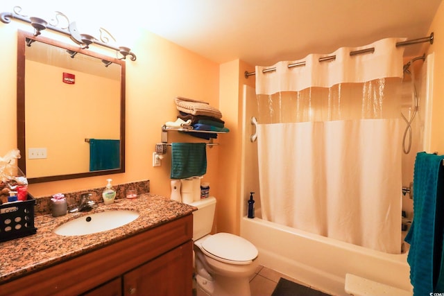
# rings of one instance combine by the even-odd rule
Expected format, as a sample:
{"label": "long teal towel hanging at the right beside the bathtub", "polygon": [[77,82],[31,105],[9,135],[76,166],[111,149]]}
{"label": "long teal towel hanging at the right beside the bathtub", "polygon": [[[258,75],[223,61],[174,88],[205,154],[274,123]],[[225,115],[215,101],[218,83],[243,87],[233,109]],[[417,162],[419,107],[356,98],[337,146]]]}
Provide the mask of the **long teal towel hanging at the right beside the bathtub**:
{"label": "long teal towel hanging at the right beside the bathtub", "polygon": [[444,156],[418,153],[413,172],[413,223],[405,241],[413,295],[444,293]]}

